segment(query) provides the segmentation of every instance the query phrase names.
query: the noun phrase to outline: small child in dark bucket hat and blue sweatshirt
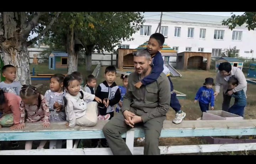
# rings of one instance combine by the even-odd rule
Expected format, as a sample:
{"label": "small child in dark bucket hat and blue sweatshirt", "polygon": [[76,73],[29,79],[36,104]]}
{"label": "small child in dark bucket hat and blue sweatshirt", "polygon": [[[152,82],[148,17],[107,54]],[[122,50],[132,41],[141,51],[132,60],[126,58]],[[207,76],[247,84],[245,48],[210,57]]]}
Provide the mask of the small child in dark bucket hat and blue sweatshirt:
{"label": "small child in dark bucket hat and blue sweatshirt", "polygon": [[211,106],[211,109],[214,109],[214,91],[212,89],[212,86],[214,86],[213,78],[208,77],[205,79],[205,82],[203,83],[204,86],[199,88],[197,91],[194,104],[196,102],[199,102],[199,106],[202,112],[206,112],[209,110],[209,104]]}

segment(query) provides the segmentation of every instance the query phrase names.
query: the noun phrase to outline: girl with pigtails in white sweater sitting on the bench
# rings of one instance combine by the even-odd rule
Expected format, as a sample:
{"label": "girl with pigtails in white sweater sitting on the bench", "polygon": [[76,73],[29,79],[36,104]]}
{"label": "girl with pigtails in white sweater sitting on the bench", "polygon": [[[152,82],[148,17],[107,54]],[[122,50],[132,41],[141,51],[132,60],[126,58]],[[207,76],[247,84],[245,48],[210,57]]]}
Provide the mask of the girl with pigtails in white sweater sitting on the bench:
{"label": "girl with pigtails in white sweater sitting on the bench", "polygon": [[[75,125],[93,127],[97,124],[97,102],[102,102],[100,98],[93,94],[80,90],[80,82],[72,75],[64,78],[63,86],[66,90],[64,96],[64,109],[66,112],[67,127]],[[97,102],[86,102],[86,99]]]}

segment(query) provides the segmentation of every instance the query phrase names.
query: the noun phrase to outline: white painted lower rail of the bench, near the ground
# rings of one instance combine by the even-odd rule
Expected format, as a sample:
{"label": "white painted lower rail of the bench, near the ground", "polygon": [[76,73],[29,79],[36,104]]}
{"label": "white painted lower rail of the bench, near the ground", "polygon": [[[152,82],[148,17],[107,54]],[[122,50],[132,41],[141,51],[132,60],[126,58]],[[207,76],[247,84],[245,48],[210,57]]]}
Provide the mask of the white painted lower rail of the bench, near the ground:
{"label": "white painted lower rail of the bench, near the ground", "polygon": [[[159,146],[161,154],[206,153],[256,150],[256,143]],[[134,155],[143,155],[144,147],[134,147]],[[44,150],[5,150],[0,155],[113,155],[110,148],[76,148]]]}

